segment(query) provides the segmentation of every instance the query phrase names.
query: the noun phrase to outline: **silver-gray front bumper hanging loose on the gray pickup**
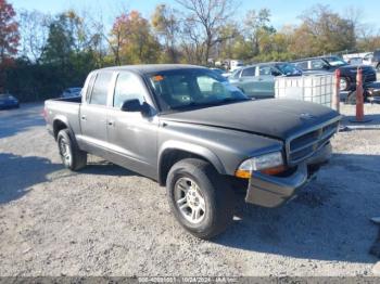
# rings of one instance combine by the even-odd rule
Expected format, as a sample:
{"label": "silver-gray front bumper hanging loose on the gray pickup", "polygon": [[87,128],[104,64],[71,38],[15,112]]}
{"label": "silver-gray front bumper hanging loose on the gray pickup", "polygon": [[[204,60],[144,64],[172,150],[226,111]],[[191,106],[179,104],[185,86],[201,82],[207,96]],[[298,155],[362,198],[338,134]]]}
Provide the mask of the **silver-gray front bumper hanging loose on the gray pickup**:
{"label": "silver-gray front bumper hanging loose on the gray pickup", "polygon": [[249,182],[245,202],[263,207],[278,207],[295,196],[314,177],[315,169],[326,164],[331,156],[331,144],[326,144],[294,172],[287,177],[268,176],[253,172]]}

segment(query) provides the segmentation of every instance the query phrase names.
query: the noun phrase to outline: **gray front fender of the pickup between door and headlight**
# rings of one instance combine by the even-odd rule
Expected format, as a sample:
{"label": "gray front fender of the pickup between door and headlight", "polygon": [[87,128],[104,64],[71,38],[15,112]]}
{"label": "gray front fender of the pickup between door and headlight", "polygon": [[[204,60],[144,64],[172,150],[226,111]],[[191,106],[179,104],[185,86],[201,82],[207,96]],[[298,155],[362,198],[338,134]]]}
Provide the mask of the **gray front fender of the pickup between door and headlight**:
{"label": "gray front fender of the pickup between door and headlight", "polygon": [[159,157],[172,149],[200,155],[211,162],[219,173],[233,176],[244,159],[282,151],[283,143],[232,129],[163,121],[159,133]]}

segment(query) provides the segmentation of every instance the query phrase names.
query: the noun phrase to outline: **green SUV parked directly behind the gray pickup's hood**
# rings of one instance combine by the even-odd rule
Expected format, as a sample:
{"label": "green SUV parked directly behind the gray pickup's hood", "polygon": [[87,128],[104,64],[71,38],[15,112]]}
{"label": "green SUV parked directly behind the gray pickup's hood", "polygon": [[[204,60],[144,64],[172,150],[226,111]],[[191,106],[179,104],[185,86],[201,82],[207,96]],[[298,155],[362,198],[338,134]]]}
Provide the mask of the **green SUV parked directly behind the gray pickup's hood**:
{"label": "green SUV parked directly behind the gray pickup's hood", "polygon": [[275,77],[301,76],[302,70],[283,62],[263,63],[243,67],[235,72],[228,79],[246,95],[255,99],[275,96]]}

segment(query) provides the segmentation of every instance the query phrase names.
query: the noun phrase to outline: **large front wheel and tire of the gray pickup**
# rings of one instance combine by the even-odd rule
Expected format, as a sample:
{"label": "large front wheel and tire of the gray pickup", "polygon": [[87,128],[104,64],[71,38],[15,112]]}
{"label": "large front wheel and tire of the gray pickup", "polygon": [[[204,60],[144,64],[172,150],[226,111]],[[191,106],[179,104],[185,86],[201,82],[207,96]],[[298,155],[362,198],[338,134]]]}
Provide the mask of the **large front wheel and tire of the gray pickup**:
{"label": "large front wheel and tire of the gray pickup", "polygon": [[176,163],[167,176],[166,190],[177,221],[203,240],[224,232],[233,218],[235,195],[228,184],[205,160],[187,158]]}

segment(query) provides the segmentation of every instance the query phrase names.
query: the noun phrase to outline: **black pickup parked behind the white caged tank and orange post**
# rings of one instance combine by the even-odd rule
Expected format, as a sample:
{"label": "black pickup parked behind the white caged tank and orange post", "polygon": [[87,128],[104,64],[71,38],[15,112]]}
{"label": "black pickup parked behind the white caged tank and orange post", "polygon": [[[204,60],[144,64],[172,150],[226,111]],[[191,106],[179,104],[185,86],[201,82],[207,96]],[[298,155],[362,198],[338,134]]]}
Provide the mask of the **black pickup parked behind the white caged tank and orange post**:
{"label": "black pickup parked behind the white caged tank and orange post", "polygon": [[366,65],[350,65],[339,56],[320,56],[297,60],[292,62],[297,68],[304,72],[329,72],[334,73],[341,70],[341,91],[353,91],[356,88],[357,68],[363,69],[363,81],[369,83],[376,81],[376,70],[371,66]]}

